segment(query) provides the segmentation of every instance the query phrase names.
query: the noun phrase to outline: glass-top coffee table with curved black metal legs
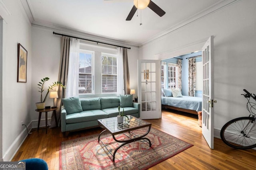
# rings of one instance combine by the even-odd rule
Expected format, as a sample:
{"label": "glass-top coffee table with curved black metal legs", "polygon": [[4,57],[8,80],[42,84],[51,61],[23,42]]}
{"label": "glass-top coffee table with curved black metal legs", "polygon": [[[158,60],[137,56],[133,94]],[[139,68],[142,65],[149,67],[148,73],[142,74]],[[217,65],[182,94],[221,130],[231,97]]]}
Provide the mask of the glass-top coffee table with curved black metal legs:
{"label": "glass-top coffee table with curved black metal legs", "polygon": [[[144,120],[140,120],[131,115],[128,115],[128,117],[130,117],[130,121],[128,123],[117,123],[117,117],[110,117],[110,118],[98,120],[99,126],[103,129],[105,129],[100,133],[100,135],[98,137],[98,142],[101,142],[104,145],[104,147],[108,150],[106,145],[100,140],[100,136],[102,135],[102,133],[104,133],[105,131],[108,131],[108,133],[110,133],[112,135],[113,139],[116,142],[122,143],[114,150],[113,154],[110,152],[110,150],[108,150],[108,152],[113,157],[113,159],[112,159],[113,161],[115,161],[115,155],[116,155],[117,150],[128,143],[132,143],[132,142],[139,141],[139,140],[144,140],[144,141],[148,142],[149,147],[151,147],[150,140],[145,137],[146,135],[148,135],[148,133],[150,131],[151,123],[148,123]],[[140,136],[138,136],[134,132],[132,132],[133,130],[141,129],[143,127],[148,127],[148,131],[146,131],[144,134],[142,134]],[[132,137],[126,135],[125,132],[132,133]],[[118,135],[121,133],[126,135],[129,139],[122,140],[122,141],[116,139],[115,135]]]}

